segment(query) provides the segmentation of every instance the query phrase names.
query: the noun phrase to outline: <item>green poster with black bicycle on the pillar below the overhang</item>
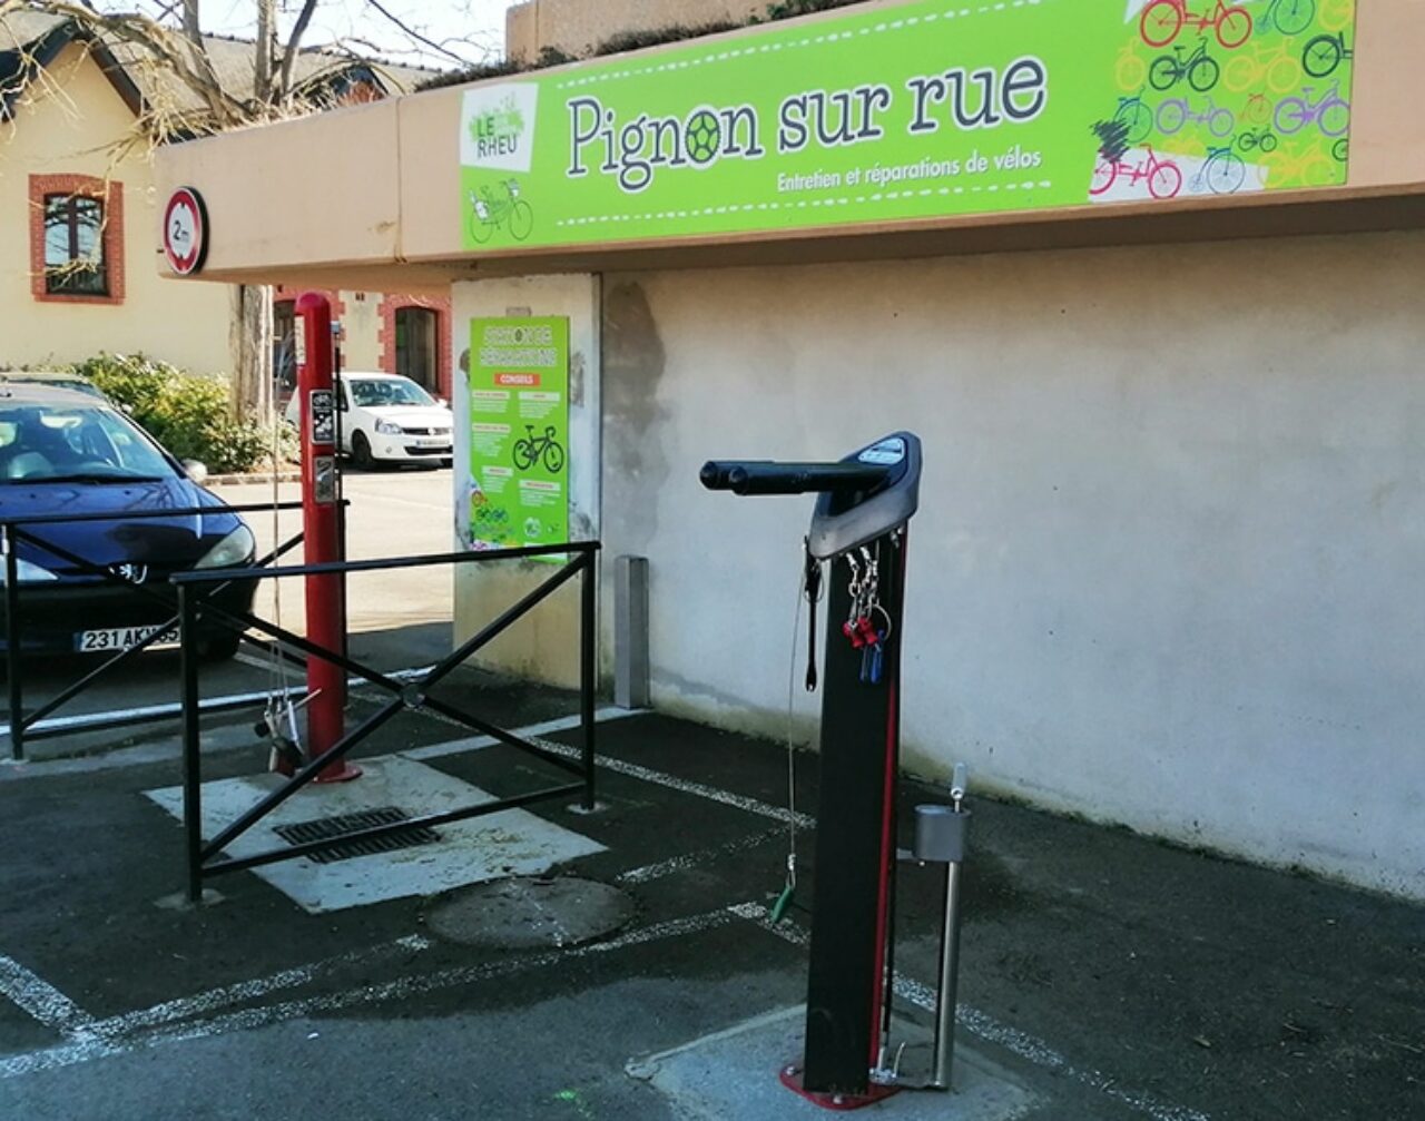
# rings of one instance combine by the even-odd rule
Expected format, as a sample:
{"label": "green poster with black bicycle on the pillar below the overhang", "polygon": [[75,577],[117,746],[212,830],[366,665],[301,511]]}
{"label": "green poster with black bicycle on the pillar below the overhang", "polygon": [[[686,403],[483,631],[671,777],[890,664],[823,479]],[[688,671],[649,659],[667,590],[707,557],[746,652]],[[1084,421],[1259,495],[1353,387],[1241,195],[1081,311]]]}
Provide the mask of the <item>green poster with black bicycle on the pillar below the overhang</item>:
{"label": "green poster with black bicycle on the pillar below the overhang", "polygon": [[472,548],[569,540],[569,319],[470,320]]}

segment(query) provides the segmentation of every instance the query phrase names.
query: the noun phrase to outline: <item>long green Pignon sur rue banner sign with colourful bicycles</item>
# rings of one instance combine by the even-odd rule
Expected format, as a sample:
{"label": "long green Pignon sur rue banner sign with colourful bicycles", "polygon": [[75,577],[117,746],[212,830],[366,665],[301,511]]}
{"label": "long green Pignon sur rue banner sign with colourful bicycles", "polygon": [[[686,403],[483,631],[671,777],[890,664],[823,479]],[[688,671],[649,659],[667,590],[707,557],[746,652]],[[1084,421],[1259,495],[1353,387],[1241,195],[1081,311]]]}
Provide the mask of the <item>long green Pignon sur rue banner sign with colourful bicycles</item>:
{"label": "long green Pignon sur rue banner sign with colourful bicycles", "polygon": [[465,93],[470,251],[1345,182],[1355,0],[916,0]]}

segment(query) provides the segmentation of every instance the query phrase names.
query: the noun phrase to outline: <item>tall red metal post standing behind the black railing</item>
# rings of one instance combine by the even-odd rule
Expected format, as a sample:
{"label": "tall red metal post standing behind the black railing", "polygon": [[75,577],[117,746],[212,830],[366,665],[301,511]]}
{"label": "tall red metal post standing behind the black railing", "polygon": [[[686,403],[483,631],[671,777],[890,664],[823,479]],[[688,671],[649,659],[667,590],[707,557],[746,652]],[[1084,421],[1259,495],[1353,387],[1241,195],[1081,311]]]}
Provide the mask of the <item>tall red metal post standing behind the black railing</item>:
{"label": "tall red metal post standing behind the black railing", "polygon": [[[305,292],[296,301],[296,392],[302,432],[302,531],[308,564],[342,558],[341,507],[336,486],[336,395],[332,376],[332,305]],[[346,588],[336,574],[306,577],[306,637],[326,650],[343,650]],[[346,671],[322,658],[308,658],[306,754],[315,759],[345,731]],[[322,769],[316,782],[346,782],[359,766],[339,759]]]}

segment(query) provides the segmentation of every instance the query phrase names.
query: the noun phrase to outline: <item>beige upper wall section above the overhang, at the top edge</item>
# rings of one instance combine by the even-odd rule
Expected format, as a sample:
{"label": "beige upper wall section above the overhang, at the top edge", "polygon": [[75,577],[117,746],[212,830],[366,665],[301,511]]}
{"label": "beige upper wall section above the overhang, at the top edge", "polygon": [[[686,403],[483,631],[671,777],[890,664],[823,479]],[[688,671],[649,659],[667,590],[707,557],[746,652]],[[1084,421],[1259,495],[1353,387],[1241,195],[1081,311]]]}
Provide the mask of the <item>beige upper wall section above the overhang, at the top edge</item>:
{"label": "beige upper wall section above the overhang, at the top edge", "polygon": [[530,0],[504,16],[504,53],[534,61],[544,47],[583,57],[617,31],[674,24],[742,23],[765,14],[768,0]]}

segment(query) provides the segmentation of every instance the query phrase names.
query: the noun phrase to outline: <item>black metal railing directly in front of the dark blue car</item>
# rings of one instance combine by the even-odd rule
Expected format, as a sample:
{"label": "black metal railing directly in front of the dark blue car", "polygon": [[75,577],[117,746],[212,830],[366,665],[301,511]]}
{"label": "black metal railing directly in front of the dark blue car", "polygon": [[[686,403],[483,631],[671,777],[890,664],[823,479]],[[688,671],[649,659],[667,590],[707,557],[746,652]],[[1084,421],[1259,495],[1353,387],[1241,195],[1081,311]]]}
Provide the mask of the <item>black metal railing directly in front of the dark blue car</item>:
{"label": "black metal railing directly in front of the dark blue car", "polygon": [[[120,665],[137,658],[145,650],[160,644],[178,628],[178,603],[174,590],[167,584],[137,584],[103,564],[95,564],[70,550],[46,540],[36,531],[43,526],[80,524],[87,521],[145,521],[174,517],[197,517],[217,514],[271,513],[272,510],[301,510],[301,503],[272,503],[252,506],[192,506],[172,510],[140,510],[121,513],[94,514],[36,514],[30,517],[0,517],[0,550],[4,551],[4,640],[6,640],[6,672],[9,685],[9,714],[10,722],[4,729],[10,738],[10,755],[17,762],[24,759],[24,745],[30,739],[46,739],[67,735],[76,731],[100,732],[115,728],[133,728],[155,721],[174,719],[180,715],[178,705],[154,705],[125,712],[103,714],[100,716],[73,718],[64,722],[51,721],[56,712],[70,704],[76,697],[93,688],[101,678],[115,671]],[[108,587],[125,590],[135,600],[157,603],[170,614],[165,622],[157,624],[155,630],[145,638],[118,651],[114,657],[86,672],[81,678],[64,687],[57,695],[47,699],[33,712],[24,711],[24,601],[26,590],[31,594],[43,590],[46,595],[76,595],[93,594],[91,583],[44,581],[43,584],[28,584],[20,581],[20,546],[28,543],[37,550],[56,557],[70,565],[74,575],[90,575],[104,581]],[[234,580],[252,580],[258,573],[266,570],[281,557],[291,553],[302,543],[298,533],[278,544],[271,553],[254,561],[252,567],[228,568],[222,587],[228,587]],[[239,641],[264,645],[251,635],[239,635]],[[222,712],[237,708],[251,707],[249,698],[232,698],[209,702],[205,712]]]}

